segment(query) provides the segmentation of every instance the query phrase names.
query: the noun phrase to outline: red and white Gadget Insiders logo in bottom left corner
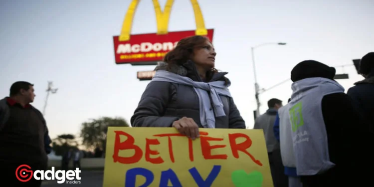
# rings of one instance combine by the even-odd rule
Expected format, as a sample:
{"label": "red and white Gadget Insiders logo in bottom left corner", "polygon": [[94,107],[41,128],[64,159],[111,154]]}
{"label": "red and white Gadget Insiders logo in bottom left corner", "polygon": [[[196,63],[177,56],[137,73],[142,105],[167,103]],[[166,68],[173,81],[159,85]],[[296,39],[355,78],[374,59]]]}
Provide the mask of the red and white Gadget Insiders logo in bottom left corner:
{"label": "red and white Gadget Insiders logo in bottom left corner", "polygon": [[[36,170],[33,172],[31,170],[31,167],[28,165],[20,165],[15,170],[15,177],[20,182],[27,182],[30,181],[33,177],[35,180],[57,180],[58,184],[65,183],[65,179],[69,180],[66,181],[67,184],[80,184],[80,176],[79,173],[81,171],[76,168],[75,170],[57,170],[54,171],[54,167],[52,167],[52,170]],[[74,181],[76,179],[77,181]]]}

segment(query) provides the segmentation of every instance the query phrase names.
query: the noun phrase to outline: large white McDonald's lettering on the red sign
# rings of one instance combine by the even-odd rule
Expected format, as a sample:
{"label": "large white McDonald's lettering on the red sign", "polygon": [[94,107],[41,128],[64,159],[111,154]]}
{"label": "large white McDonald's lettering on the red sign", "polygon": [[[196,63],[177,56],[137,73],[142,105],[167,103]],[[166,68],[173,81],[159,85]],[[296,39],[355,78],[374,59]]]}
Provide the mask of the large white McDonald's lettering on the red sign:
{"label": "large white McDonald's lettering on the red sign", "polygon": [[170,51],[177,46],[178,42],[164,42],[164,43],[150,43],[143,42],[140,44],[119,44],[117,48],[117,54],[120,53],[138,53],[138,52],[159,52],[159,51]]}

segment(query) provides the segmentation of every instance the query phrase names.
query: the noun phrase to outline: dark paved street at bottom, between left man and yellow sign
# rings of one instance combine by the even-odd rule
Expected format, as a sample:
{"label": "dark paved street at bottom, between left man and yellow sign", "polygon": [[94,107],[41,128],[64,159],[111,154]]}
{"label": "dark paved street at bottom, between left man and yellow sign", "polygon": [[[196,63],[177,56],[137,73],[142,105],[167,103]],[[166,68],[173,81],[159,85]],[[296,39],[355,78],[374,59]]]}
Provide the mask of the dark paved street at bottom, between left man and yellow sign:
{"label": "dark paved street at bottom, between left man and yellow sign", "polygon": [[44,181],[42,187],[102,187],[104,171],[82,171],[80,184],[58,184],[54,181]]}

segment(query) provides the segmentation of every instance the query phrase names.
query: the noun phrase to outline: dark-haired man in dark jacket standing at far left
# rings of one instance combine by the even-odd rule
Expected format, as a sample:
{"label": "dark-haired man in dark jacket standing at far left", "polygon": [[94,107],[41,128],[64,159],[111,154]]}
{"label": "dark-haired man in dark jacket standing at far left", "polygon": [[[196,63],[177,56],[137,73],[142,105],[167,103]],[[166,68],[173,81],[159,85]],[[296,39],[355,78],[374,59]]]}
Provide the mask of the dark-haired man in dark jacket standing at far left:
{"label": "dark-haired man in dark jacket standing at far left", "polygon": [[[30,105],[35,97],[32,84],[15,82],[9,95],[0,100],[0,176],[7,186],[39,187],[41,181],[27,171],[47,169],[48,129],[42,114]],[[19,168],[21,165],[28,167]],[[26,169],[22,173],[26,177],[21,176],[22,169]]]}

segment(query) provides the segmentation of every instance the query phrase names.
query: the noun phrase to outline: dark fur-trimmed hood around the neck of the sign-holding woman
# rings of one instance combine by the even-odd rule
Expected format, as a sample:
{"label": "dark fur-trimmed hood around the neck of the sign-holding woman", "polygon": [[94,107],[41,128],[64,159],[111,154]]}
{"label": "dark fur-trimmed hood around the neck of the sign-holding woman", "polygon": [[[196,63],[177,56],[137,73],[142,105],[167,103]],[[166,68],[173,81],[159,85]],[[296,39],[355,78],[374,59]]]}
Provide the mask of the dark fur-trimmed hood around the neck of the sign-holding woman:
{"label": "dark fur-trimmed hood around the neck of the sign-holding woman", "polygon": [[[169,64],[166,62],[159,62],[159,64],[155,68],[155,71],[157,70],[166,70],[166,71],[176,73],[181,76],[189,77],[194,81],[202,81],[200,76],[197,73],[194,62],[192,62],[191,60],[188,60],[182,65],[173,64],[170,67],[169,67]],[[211,82],[211,81],[223,80],[223,81],[227,81],[227,83],[230,84],[230,80],[225,77],[226,74],[227,72],[214,73],[211,76],[211,79],[209,81]]]}

